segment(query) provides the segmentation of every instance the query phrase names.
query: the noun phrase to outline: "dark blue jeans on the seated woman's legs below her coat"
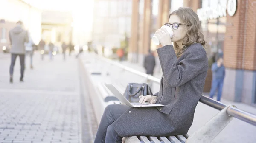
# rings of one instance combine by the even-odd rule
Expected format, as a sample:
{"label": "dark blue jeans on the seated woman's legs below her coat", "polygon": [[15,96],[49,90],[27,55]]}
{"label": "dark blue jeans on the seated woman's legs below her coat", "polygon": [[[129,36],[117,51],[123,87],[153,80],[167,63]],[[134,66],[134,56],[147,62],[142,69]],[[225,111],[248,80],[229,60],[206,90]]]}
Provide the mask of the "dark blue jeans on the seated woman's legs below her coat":
{"label": "dark blue jeans on the seated woman's legs below her coat", "polygon": [[94,143],[122,143],[122,137],[116,133],[112,123],[130,108],[121,104],[108,105],[99,123]]}

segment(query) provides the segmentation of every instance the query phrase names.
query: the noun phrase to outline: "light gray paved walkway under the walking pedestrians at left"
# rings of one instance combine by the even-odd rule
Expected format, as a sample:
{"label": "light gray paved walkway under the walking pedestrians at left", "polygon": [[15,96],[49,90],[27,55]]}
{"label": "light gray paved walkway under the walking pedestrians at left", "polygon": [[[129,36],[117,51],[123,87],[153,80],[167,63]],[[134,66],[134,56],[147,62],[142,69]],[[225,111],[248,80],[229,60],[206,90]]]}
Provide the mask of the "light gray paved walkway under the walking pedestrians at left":
{"label": "light gray paved walkway under the walking pedestrians at left", "polygon": [[[20,61],[9,83],[10,55],[0,53],[0,143],[90,143],[75,57],[26,59],[24,82]],[[81,112],[82,115],[81,116]],[[82,141],[83,138],[83,141]]]}

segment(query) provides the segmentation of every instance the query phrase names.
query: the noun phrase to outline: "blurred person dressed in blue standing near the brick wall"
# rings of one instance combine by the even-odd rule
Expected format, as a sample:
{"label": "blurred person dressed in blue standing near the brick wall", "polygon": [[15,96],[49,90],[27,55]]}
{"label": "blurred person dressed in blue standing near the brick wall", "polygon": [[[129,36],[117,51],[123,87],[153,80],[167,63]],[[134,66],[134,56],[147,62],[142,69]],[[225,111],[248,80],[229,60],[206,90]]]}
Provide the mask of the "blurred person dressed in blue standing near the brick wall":
{"label": "blurred person dressed in blue standing near the brick wall", "polygon": [[210,91],[210,98],[213,98],[215,91],[218,89],[217,100],[221,100],[224,77],[225,67],[223,65],[222,55],[218,55],[217,62],[212,64],[212,87]]}

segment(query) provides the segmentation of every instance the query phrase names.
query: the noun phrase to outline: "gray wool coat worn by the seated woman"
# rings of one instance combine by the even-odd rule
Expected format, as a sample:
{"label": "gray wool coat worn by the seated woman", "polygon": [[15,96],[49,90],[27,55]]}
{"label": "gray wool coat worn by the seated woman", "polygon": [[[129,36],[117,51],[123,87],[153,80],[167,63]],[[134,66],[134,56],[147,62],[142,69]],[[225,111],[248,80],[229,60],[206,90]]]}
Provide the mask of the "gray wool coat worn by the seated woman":
{"label": "gray wool coat worn by the seated woman", "polygon": [[157,103],[163,107],[130,108],[113,127],[121,137],[184,135],[192,125],[203,93],[208,59],[201,44],[190,45],[177,59],[172,45],[157,49],[163,76]]}

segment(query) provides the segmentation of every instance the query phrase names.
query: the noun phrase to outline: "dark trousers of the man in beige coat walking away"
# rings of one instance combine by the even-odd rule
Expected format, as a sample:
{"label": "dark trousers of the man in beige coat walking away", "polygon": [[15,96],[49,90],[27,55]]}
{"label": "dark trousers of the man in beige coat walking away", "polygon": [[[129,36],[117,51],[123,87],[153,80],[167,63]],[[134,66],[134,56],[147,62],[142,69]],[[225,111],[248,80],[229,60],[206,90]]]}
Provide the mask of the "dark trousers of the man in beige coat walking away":
{"label": "dark trousers of the man in beige coat walking away", "polygon": [[23,78],[24,76],[24,69],[25,69],[25,54],[14,54],[12,53],[12,56],[11,56],[11,66],[10,66],[10,76],[13,75],[13,67],[15,65],[15,61],[16,61],[16,58],[17,56],[20,57],[20,78]]}

